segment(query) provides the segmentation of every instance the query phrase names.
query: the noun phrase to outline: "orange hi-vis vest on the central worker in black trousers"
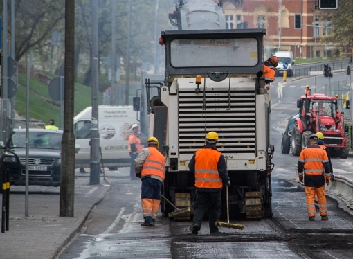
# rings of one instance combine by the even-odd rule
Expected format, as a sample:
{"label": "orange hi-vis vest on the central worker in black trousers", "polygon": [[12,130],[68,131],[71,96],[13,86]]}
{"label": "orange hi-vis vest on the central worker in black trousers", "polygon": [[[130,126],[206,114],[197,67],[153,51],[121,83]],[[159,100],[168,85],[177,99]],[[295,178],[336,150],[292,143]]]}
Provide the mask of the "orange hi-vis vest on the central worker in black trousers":
{"label": "orange hi-vis vest on the central worker in black trousers", "polygon": [[212,148],[197,150],[195,154],[195,186],[197,188],[222,188],[217,164],[221,152]]}

